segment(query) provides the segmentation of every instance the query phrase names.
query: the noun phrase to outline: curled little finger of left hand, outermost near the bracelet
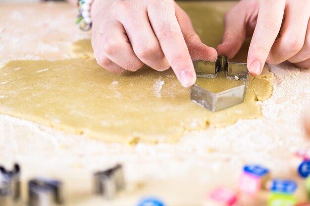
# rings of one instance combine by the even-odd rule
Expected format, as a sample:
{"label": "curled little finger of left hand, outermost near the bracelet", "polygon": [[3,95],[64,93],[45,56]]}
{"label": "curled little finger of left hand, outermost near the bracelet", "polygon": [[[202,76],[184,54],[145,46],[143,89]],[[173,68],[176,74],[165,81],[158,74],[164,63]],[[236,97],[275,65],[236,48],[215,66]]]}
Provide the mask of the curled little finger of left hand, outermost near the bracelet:
{"label": "curled little finger of left hand, outermost near the bracelet", "polygon": [[94,55],[97,63],[102,66],[104,69],[114,72],[114,73],[122,73],[125,71],[124,68],[118,66],[109,60],[103,51],[103,38],[102,34],[97,31],[93,31],[92,36],[92,47],[94,49]]}

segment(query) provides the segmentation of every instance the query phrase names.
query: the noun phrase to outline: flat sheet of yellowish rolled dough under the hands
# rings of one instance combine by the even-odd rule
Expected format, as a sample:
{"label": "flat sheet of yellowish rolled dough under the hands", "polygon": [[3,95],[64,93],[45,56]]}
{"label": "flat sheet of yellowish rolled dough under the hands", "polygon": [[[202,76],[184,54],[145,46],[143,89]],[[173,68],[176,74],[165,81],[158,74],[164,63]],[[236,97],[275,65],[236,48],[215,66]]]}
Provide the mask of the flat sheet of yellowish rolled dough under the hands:
{"label": "flat sheet of yellowish rolled dough under the hands", "polygon": [[[225,9],[181,6],[192,15],[203,41],[212,41],[212,46],[220,41]],[[206,20],[210,16],[214,21]],[[219,27],[217,35],[207,30],[212,25]],[[265,66],[260,77],[250,77],[244,103],[212,113],[190,100],[189,89],[180,85],[171,69],[156,72],[144,67],[112,74],[96,63],[89,40],[76,42],[72,51],[79,58],[11,61],[1,68],[0,113],[107,142],[175,142],[185,130],[261,117],[256,101],[268,99],[272,92],[272,74]],[[246,50],[238,58],[244,60]],[[232,85],[224,77],[205,81],[213,88]]]}

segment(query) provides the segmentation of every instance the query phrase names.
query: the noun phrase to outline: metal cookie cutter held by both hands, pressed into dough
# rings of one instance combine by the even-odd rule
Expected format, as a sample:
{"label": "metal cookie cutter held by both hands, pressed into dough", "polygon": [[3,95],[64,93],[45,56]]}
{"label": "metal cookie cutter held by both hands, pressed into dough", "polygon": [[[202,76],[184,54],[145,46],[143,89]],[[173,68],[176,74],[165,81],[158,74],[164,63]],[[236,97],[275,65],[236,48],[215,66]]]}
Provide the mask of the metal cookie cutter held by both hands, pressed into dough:
{"label": "metal cookie cutter held by both hands, pressed into dough", "polygon": [[226,72],[227,79],[243,80],[245,82],[240,86],[217,93],[194,84],[191,87],[192,101],[212,112],[217,112],[243,102],[249,74],[246,63],[228,62],[226,56],[219,56],[214,62],[195,60],[194,67],[198,78],[216,78],[218,72],[224,71]]}

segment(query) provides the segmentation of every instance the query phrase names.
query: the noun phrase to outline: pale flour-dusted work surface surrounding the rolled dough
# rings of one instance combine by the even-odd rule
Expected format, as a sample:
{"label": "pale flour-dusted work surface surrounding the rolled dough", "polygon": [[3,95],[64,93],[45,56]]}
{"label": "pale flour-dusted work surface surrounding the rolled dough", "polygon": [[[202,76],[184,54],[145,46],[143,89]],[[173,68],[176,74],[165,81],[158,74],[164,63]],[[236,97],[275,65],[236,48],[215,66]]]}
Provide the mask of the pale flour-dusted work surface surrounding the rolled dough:
{"label": "pale flour-dusted work surface surrounding the rolled dough", "polygon": [[[210,3],[225,9],[231,5]],[[71,43],[89,38],[73,24],[75,15],[75,8],[65,3],[1,4],[0,62],[69,58]],[[142,194],[157,195],[169,206],[198,205],[214,186],[235,185],[245,163],[290,177],[290,153],[308,145],[301,123],[310,105],[310,71],[285,63],[271,66],[271,72],[273,95],[258,102],[262,119],[187,132],[175,144],[106,144],[0,115],[0,162],[19,162],[24,182],[37,175],[62,179],[68,205],[81,206],[135,205]],[[119,162],[125,165],[130,191],[112,203],[92,197],[91,173]]]}

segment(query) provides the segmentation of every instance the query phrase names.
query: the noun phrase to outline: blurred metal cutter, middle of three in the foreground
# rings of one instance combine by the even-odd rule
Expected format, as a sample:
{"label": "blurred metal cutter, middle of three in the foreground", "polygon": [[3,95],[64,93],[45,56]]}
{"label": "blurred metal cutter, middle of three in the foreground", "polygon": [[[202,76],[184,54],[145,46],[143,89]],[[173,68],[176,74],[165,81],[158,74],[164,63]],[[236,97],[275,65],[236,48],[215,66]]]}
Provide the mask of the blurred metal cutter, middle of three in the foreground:
{"label": "blurred metal cutter, middle of three in the foreground", "polygon": [[36,178],[28,182],[29,206],[62,205],[62,182],[48,178]]}

